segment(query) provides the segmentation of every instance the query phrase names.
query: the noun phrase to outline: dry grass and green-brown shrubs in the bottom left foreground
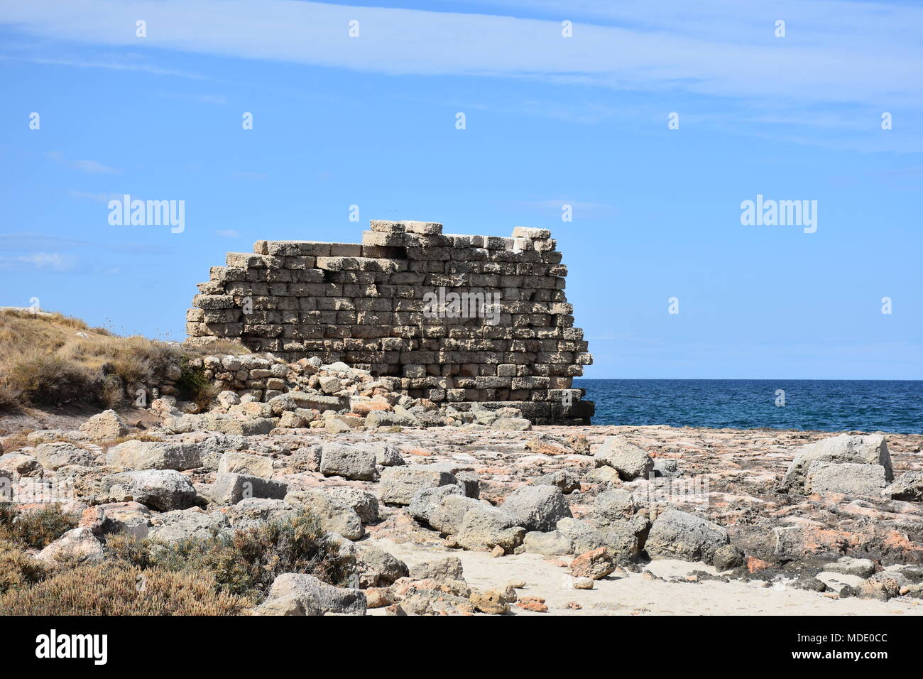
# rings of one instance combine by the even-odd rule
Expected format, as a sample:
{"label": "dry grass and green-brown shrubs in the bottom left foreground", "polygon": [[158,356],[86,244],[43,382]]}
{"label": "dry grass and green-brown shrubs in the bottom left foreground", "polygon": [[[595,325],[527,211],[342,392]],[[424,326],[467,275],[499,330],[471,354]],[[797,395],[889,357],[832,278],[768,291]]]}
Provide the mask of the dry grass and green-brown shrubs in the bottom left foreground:
{"label": "dry grass and green-brown shrubs in the bottom left foreground", "polygon": [[23,549],[70,526],[60,510],[49,512],[41,520],[9,507],[0,514],[0,615],[234,615],[263,600],[282,573],[342,585],[355,569],[302,512],[170,544],[118,535],[107,540],[102,562],[53,570]]}

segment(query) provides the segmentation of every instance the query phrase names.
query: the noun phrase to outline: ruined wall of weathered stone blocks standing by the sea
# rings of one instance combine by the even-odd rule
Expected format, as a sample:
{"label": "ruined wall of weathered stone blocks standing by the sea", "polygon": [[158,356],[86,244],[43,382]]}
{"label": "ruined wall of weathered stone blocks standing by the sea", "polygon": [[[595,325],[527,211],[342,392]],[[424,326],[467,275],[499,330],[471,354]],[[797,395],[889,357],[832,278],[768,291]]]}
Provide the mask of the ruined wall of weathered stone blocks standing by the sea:
{"label": "ruined wall of weathered stone blocks standing by the sea", "polygon": [[589,423],[593,403],[572,378],[593,358],[555,248],[546,229],[454,236],[428,222],[373,221],[361,245],[260,240],[211,268],[186,331],[400,377],[404,393],[459,410]]}

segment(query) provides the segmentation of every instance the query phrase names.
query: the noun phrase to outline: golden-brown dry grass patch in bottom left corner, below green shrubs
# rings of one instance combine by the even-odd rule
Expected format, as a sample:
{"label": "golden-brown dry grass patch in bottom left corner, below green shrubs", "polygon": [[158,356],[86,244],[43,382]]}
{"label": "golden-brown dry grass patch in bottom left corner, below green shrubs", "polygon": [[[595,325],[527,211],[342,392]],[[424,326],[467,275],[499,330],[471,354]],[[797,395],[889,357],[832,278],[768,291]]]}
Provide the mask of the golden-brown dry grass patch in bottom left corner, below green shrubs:
{"label": "golden-brown dry grass patch in bottom left corner, below green shrubs", "polygon": [[250,601],[215,588],[208,573],[120,563],[83,565],[0,597],[0,615],[235,615]]}

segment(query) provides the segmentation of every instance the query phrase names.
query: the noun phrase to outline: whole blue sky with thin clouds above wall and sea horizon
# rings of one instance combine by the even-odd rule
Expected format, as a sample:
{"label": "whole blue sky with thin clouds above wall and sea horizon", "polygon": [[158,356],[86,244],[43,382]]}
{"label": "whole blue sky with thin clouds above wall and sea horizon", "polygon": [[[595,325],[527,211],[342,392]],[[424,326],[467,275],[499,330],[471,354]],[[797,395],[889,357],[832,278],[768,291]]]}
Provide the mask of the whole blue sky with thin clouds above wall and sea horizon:
{"label": "whole blue sky with thin clouds above wall and sea horizon", "polygon": [[[897,2],[6,3],[0,305],[182,339],[257,239],[528,225],[587,377],[920,379],[921,29]],[[185,230],[110,225],[125,193]],[[742,225],[757,194],[817,200],[817,231]]]}

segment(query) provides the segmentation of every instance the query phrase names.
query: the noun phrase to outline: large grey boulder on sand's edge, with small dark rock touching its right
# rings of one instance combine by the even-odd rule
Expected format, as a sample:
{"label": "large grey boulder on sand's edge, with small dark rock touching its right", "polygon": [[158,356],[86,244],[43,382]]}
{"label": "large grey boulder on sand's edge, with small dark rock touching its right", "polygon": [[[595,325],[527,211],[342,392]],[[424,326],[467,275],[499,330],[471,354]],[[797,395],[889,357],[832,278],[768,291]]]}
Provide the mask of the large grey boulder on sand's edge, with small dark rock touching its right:
{"label": "large grey boulder on sand's edge, with small dark rock touching its right", "polygon": [[710,564],[728,543],[727,531],[701,516],[667,509],[654,520],[644,550],[652,559],[679,559]]}

